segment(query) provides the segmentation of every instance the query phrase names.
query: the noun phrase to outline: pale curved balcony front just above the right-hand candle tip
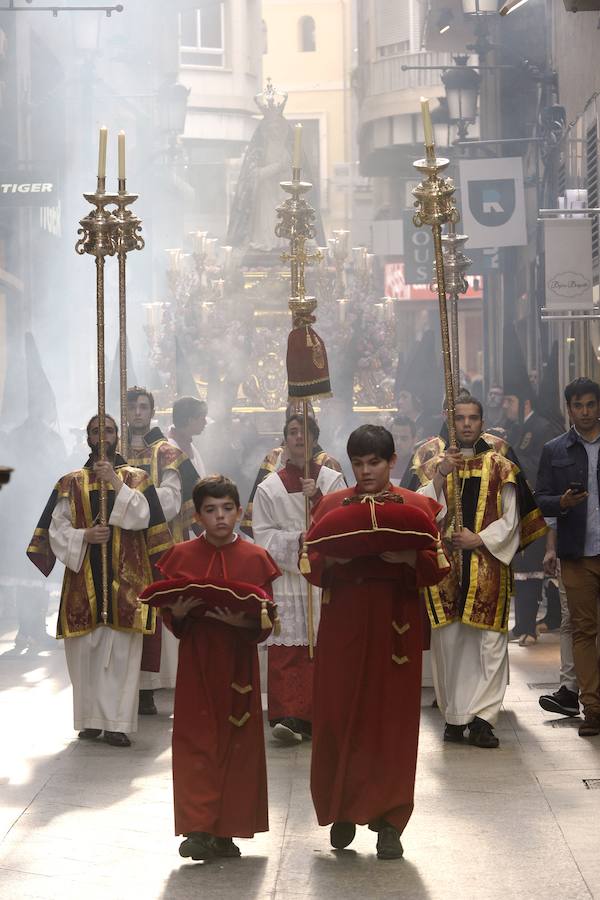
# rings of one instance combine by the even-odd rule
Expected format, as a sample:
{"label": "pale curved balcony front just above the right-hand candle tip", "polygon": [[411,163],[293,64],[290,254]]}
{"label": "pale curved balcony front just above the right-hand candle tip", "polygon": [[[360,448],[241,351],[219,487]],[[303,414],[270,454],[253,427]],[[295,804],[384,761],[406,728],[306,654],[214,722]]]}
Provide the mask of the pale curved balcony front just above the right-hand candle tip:
{"label": "pale curved balcony front just above the right-hand candle tip", "polygon": [[392,91],[418,90],[422,87],[437,87],[442,83],[440,69],[420,69],[402,71],[402,66],[452,66],[450,53],[401,53],[387,56],[359,69],[358,89],[361,97],[374,94],[388,94]]}

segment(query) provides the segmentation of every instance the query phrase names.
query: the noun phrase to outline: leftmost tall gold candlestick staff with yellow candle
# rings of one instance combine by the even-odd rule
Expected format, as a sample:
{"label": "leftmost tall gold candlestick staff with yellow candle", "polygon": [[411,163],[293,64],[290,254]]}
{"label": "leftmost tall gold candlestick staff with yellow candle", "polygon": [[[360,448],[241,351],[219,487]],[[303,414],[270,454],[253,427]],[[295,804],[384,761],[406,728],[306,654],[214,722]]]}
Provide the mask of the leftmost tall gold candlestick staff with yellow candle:
{"label": "leftmost tall gold candlestick staff with yellow candle", "polygon": [[[107,256],[116,252],[115,219],[106,207],[115,203],[114,195],[106,193],[106,143],[108,132],[100,129],[100,148],[98,154],[98,182],[94,194],[83,196],[95,207],[80,220],[81,235],[75,251],[83,256],[89,253],[96,262],[96,337],[98,357],[98,458],[106,459],[106,368],[104,347],[104,261]],[[108,524],[108,495],[106,482],[100,482],[100,515],[99,524]],[[101,544],[102,561],[102,621],[108,621],[108,545]]]}

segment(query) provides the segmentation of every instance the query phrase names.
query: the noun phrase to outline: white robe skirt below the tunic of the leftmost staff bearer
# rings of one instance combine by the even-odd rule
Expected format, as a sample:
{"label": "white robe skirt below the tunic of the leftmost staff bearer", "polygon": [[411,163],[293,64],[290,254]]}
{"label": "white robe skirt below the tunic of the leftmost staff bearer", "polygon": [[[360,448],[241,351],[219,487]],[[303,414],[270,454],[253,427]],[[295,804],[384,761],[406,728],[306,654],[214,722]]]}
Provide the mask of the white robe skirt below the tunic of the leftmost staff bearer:
{"label": "white robe skirt below the tunic of the leftmost staff bearer", "polygon": [[77,731],[137,731],[142,635],[100,625],[90,634],[65,638]]}

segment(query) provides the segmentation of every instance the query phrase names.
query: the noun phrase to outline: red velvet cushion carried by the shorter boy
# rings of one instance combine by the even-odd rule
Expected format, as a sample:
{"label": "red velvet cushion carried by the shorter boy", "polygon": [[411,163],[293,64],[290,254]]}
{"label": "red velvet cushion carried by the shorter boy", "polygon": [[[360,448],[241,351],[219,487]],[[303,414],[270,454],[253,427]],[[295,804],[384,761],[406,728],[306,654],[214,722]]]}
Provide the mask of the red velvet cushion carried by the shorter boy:
{"label": "red velvet cushion carried by the shorter boy", "polygon": [[192,618],[201,618],[208,610],[227,609],[232,613],[245,612],[260,621],[263,603],[266,603],[269,618],[273,622],[277,606],[262,588],[245,581],[229,581],[222,578],[207,580],[190,578],[170,578],[155,581],[144,588],[140,600],[149,606],[171,606],[178,597],[195,597],[202,604],[189,613]]}

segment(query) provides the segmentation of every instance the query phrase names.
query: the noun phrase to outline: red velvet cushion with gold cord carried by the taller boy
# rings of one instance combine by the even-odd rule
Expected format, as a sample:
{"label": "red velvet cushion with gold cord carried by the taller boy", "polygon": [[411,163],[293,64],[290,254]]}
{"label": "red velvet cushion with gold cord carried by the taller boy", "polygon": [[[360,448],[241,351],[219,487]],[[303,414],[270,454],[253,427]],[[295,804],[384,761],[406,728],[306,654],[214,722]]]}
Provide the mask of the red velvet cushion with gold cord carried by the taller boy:
{"label": "red velvet cushion with gold cord carried by the taller boy", "polygon": [[352,559],[387,550],[433,548],[438,537],[433,518],[417,506],[353,499],[315,522],[306,535],[306,546],[324,556]]}

